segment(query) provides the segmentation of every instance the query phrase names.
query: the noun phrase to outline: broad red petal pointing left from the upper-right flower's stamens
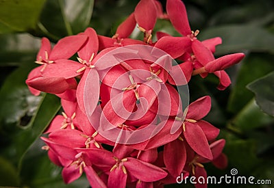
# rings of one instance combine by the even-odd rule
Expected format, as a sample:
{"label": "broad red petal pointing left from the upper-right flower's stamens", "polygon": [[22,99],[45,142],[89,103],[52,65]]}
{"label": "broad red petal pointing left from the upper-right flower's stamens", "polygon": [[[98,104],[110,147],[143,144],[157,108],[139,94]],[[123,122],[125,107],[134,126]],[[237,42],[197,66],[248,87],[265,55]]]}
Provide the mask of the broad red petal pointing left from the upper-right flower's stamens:
{"label": "broad red petal pointing left from the upper-right flower's stamens", "polygon": [[164,36],[155,44],[155,48],[165,51],[174,59],[183,55],[191,44],[188,37]]}

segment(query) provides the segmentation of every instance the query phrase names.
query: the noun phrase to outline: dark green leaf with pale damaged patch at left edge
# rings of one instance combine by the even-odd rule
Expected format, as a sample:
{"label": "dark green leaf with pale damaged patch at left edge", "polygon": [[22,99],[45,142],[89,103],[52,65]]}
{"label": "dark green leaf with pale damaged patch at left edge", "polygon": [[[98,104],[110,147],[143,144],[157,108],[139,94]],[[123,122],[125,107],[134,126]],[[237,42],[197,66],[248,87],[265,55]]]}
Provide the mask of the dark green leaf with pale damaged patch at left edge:
{"label": "dark green leaf with pale damaged patch at left edge", "polygon": [[[24,117],[31,117],[36,111],[40,97],[33,96],[27,89],[25,79],[34,64],[25,64],[5,79],[0,90],[0,122],[6,129],[10,126],[25,126]],[[22,120],[22,121],[21,121]]]}

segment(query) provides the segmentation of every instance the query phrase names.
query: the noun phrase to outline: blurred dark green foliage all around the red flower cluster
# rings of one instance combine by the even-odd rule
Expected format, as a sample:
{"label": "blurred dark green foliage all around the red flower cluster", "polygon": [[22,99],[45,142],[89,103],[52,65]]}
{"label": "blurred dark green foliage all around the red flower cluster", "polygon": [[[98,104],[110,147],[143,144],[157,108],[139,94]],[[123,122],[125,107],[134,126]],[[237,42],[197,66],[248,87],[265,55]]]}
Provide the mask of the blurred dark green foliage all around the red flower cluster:
{"label": "blurred dark green foliage all around the red flower cluster", "polygon": [[[161,1],[165,5],[165,1]],[[134,11],[137,0],[1,0],[0,1],[0,186],[88,187],[85,177],[64,185],[61,169],[51,163],[39,137],[60,110],[51,94],[32,96],[25,79],[40,47],[40,38],[51,42],[93,27],[113,36],[116,27]],[[212,97],[206,120],[221,129],[229,166],[217,170],[206,165],[208,175],[230,174],[271,179],[274,183],[274,1],[184,1],[191,28],[200,40],[220,36],[216,57],[244,52],[247,56],[227,72],[232,85],[216,90],[215,77],[193,77],[191,101]],[[160,20],[155,31],[178,33],[169,21]],[[140,38],[134,31],[133,38]],[[167,187],[182,187],[169,185]],[[250,185],[222,185],[249,187]],[[192,187],[187,185],[186,187]],[[209,187],[219,187],[210,185]],[[269,187],[255,185],[254,187]]]}

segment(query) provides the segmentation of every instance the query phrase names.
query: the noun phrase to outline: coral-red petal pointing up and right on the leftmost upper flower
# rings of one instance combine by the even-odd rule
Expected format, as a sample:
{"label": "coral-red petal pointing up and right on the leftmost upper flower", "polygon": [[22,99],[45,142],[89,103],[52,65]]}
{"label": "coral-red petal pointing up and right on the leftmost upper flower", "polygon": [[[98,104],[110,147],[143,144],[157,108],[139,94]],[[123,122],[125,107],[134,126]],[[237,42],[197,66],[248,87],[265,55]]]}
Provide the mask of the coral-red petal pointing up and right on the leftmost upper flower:
{"label": "coral-red petal pointing up and right on the leftmost upper flower", "polygon": [[73,56],[86,42],[87,36],[67,36],[62,38],[55,44],[49,59],[55,61],[57,59],[69,59]]}

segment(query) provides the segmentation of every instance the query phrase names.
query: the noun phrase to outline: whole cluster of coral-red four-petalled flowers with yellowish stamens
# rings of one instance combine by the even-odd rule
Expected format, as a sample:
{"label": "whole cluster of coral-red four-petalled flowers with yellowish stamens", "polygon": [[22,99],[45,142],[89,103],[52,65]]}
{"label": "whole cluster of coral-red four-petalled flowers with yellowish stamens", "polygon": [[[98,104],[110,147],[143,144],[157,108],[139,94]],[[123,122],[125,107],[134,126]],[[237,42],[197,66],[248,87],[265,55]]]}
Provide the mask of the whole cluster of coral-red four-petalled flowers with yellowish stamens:
{"label": "whole cluster of coral-red four-petalled flowers with yellowish stamens", "polygon": [[[191,31],[180,0],[141,0],[112,38],[88,28],[59,40],[51,49],[42,38],[27,85],[32,94],[61,98],[62,116],[55,116],[42,137],[49,159],[63,167],[65,183],[83,172],[92,187],[163,187],[177,176],[207,176],[202,163],[223,168],[225,140],[219,129],[201,120],[210,111],[210,96],[190,105],[178,85],[194,75],[219,77],[219,90],[230,79],[225,68],[245,56],[214,58],[221,38],[199,41]],[[156,32],[157,19],[169,19],[182,37]],[[144,40],[129,38],[134,28]],[[77,53],[77,61],[73,55]],[[174,64],[174,59],[180,64]],[[205,187],[206,185],[195,185]]]}

